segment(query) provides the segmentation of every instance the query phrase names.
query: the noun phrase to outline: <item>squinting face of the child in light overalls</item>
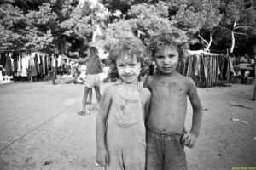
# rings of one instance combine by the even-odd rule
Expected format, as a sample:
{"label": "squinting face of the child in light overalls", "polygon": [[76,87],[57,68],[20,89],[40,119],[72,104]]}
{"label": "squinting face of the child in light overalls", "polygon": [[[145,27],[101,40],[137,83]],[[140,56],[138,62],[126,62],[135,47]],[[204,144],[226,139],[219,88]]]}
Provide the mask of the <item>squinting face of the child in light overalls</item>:
{"label": "squinting face of the child in light overalls", "polygon": [[137,84],[140,75],[141,62],[137,62],[137,56],[125,54],[116,61],[119,77],[128,84]]}

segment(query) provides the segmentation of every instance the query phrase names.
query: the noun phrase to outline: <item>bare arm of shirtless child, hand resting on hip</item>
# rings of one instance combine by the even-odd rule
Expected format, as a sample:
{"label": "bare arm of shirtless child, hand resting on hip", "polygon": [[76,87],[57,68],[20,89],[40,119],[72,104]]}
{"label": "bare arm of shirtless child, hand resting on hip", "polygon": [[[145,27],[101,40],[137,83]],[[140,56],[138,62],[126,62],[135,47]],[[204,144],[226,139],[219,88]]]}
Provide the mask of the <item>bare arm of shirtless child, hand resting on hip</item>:
{"label": "bare arm of shirtless child, hand resting on hip", "polygon": [[193,148],[196,143],[196,139],[200,132],[201,120],[202,120],[202,106],[201,100],[198,97],[197,90],[195,87],[195,82],[189,78],[188,79],[188,87],[189,87],[189,100],[193,108],[193,119],[192,119],[192,127],[189,133],[186,133],[183,136],[182,142],[184,145],[189,148]]}

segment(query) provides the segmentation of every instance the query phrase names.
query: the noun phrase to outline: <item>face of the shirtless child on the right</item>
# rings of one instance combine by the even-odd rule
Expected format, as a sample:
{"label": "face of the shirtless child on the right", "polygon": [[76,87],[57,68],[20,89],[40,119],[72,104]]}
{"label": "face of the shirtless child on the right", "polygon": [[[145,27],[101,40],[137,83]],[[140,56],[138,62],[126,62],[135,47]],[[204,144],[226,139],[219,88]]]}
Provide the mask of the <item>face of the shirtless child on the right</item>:
{"label": "face of the shirtless child on the right", "polygon": [[154,54],[155,65],[158,70],[165,74],[176,71],[178,63],[178,51],[175,45],[164,45],[157,48]]}

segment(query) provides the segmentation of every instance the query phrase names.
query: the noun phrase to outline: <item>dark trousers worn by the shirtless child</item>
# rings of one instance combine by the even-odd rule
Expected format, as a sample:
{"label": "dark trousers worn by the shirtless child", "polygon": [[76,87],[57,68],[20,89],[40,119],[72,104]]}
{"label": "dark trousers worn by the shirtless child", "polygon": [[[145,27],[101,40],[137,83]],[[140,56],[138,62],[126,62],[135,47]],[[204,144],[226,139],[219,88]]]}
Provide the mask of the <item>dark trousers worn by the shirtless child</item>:
{"label": "dark trousers worn by the shirtless child", "polygon": [[158,133],[147,127],[146,170],[187,170],[182,134]]}

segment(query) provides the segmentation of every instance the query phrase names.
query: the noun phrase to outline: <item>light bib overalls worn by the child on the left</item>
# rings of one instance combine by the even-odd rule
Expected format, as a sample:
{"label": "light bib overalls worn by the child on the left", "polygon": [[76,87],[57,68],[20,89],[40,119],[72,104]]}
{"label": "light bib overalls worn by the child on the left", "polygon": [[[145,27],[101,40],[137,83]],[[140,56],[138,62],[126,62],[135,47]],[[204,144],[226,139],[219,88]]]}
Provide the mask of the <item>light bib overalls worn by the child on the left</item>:
{"label": "light bib overalls worn by the child on the left", "polygon": [[106,145],[109,170],[144,170],[146,129],[140,89],[118,85],[108,112]]}

